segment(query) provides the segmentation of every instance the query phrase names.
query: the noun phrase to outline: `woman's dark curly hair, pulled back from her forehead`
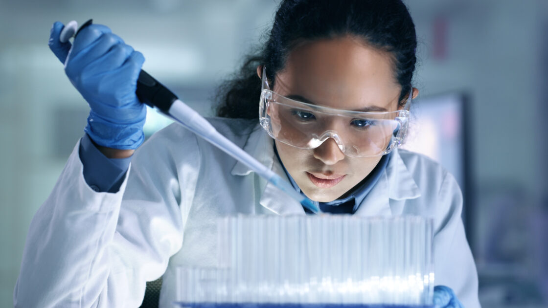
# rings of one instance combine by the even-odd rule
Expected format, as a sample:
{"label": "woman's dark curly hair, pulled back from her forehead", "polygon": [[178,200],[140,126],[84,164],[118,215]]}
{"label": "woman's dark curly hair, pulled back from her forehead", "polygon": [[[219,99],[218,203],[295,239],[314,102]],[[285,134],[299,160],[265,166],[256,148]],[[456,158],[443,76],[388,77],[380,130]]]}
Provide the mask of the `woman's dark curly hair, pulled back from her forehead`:
{"label": "woman's dark curly hair, pulled back from her forehead", "polygon": [[399,102],[404,104],[415,71],[416,34],[401,0],[283,0],[264,48],[248,56],[235,78],[219,88],[217,115],[258,118],[261,83],[257,66],[267,67],[267,78],[273,84],[296,44],[345,35],[361,37],[392,54],[395,77],[402,87]]}

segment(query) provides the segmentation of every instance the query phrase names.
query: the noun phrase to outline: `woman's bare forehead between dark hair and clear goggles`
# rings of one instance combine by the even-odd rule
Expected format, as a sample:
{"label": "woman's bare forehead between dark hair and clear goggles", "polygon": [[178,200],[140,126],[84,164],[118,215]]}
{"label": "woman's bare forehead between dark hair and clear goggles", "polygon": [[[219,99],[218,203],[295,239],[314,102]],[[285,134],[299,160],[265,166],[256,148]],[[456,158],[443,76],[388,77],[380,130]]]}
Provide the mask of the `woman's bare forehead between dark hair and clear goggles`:
{"label": "woman's bare forehead between dark hair and clear goggles", "polygon": [[400,89],[389,53],[345,36],[295,47],[276,75],[273,90],[302,96],[317,105],[361,109],[391,105]]}

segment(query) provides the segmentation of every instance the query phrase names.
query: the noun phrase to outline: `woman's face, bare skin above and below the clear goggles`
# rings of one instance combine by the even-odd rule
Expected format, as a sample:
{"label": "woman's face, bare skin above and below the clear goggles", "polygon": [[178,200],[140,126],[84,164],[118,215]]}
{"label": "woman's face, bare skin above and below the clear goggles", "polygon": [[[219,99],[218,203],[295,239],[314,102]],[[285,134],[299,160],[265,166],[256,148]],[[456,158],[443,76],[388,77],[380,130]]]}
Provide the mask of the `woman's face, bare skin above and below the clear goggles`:
{"label": "woman's face, bare skin above and below the clear goggles", "polygon": [[[356,111],[396,111],[401,87],[390,54],[359,38],[307,42],[289,53],[274,92],[310,104]],[[303,150],[275,140],[284,166],[312,200],[329,202],[345,195],[375,168],[378,157],[350,157],[328,139]]]}

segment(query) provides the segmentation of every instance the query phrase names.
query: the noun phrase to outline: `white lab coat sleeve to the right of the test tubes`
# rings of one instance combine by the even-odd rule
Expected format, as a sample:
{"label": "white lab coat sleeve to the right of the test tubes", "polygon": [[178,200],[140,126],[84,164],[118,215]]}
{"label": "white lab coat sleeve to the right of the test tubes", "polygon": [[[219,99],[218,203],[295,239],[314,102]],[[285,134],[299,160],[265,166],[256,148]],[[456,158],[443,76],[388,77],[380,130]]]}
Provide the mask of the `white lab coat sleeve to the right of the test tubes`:
{"label": "white lab coat sleeve to the right of the test tubes", "polygon": [[461,219],[463,195],[453,175],[445,173],[438,193],[434,235],[435,283],[452,288],[466,308],[480,307],[476,265]]}

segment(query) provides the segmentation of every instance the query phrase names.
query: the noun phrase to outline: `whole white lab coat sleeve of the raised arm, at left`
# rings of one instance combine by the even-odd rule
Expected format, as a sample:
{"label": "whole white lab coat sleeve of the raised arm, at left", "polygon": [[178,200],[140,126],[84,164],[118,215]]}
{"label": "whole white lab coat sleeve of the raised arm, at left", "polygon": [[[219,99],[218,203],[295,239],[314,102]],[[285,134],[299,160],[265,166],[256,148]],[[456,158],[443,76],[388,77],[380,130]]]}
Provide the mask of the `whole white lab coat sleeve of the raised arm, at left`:
{"label": "whole white lab coat sleeve of the raised arm, at left", "polygon": [[[196,180],[178,179],[173,152],[149,141],[135,152],[116,193],[89,188],[75,147],[32,220],[14,290],[16,307],[141,304],[146,281],[160,277],[181,247],[179,206],[191,197],[181,197],[180,185]],[[195,148],[186,146],[199,159]]]}

